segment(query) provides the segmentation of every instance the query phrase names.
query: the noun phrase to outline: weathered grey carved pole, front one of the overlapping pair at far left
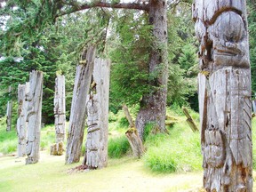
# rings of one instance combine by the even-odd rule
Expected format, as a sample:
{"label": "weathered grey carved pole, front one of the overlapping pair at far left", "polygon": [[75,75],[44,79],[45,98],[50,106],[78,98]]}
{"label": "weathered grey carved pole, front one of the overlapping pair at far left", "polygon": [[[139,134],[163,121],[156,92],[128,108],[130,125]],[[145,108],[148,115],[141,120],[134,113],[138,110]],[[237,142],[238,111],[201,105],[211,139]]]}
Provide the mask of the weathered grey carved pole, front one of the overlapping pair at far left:
{"label": "weathered grey carved pole, front one of the overlapping pair at far left", "polygon": [[29,92],[26,95],[26,100],[28,101],[26,117],[28,122],[28,138],[26,146],[28,158],[26,159],[26,164],[36,164],[39,160],[42,97],[43,72],[33,70],[29,74]]}

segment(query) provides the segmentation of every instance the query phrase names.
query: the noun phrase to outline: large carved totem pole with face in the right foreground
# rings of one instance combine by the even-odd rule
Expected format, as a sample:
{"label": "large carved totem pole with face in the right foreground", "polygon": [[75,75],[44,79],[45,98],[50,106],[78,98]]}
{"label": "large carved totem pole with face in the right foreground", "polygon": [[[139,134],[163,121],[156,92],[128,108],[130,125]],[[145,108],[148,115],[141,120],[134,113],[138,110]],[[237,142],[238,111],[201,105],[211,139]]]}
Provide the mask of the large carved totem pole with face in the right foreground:
{"label": "large carved totem pole with face in the right foreground", "polygon": [[252,191],[251,73],[245,0],[196,0],[206,191]]}

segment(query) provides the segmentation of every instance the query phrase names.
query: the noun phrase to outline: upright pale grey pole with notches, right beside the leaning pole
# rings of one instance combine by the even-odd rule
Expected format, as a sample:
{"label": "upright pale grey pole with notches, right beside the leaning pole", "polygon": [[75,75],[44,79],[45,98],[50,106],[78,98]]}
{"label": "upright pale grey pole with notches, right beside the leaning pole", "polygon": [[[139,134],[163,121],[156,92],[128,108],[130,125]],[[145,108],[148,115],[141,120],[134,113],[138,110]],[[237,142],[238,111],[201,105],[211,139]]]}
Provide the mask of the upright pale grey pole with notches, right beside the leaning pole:
{"label": "upright pale grey pole with notches, right beside the leaning pole", "polygon": [[91,92],[87,102],[88,130],[84,165],[90,169],[108,164],[108,95],[110,61],[94,62]]}

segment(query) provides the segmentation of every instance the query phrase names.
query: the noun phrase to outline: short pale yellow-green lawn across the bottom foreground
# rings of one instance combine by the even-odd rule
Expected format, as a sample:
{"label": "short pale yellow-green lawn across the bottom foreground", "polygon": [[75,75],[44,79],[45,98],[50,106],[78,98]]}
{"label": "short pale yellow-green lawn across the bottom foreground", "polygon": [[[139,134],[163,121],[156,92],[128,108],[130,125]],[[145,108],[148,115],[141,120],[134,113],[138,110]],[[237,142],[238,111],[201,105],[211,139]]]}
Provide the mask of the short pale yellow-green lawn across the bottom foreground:
{"label": "short pale yellow-green lawn across the bottom foreground", "polygon": [[142,160],[110,160],[108,168],[92,172],[68,170],[64,156],[48,156],[44,151],[38,164],[24,165],[24,158],[0,158],[0,191],[198,191],[202,172],[156,174],[143,166]]}

